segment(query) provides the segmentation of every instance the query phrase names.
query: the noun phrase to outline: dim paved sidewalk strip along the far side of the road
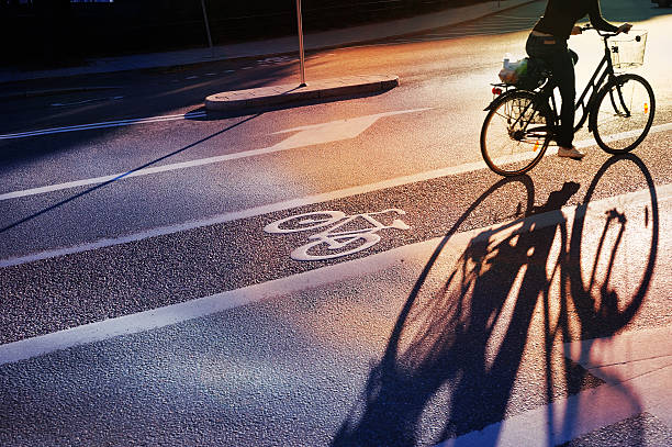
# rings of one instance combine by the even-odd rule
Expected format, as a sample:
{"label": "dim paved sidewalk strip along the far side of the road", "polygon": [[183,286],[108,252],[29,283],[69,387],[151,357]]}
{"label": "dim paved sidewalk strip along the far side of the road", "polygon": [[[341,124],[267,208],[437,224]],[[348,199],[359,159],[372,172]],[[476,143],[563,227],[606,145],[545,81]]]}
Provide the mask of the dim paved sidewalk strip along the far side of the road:
{"label": "dim paved sidewalk strip along the far side of the road", "polygon": [[[392,22],[374,23],[343,30],[324,31],[304,36],[306,51],[335,48],[380,38],[411,35],[423,31],[449,26],[474,20],[531,3],[537,0],[501,0],[488,1],[469,7],[452,8],[433,14],[400,19]],[[234,45],[221,45],[213,48],[194,48],[176,52],[141,54],[121,57],[90,59],[79,67],[56,68],[49,70],[22,71],[14,67],[0,68],[0,83],[30,79],[93,75],[158,67],[173,67],[192,64],[226,60],[242,57],[261,57],[298,53],[296,36],[249,42]]]}

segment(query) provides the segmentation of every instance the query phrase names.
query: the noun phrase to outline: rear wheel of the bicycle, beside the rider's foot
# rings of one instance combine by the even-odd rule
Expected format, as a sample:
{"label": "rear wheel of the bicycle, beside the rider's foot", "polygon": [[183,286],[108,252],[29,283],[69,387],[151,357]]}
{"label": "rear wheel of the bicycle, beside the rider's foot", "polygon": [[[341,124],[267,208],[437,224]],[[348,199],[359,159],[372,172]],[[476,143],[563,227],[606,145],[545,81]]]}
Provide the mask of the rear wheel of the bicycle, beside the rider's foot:
{"label": "rear wheel of the bicycle, beside the rider's foot", "polygon": [[501,176],[530,170],[548,147],[550,119],[537,105],[534,93],[514,91],[495,102],[481,130],[481,154],[490,169]]}

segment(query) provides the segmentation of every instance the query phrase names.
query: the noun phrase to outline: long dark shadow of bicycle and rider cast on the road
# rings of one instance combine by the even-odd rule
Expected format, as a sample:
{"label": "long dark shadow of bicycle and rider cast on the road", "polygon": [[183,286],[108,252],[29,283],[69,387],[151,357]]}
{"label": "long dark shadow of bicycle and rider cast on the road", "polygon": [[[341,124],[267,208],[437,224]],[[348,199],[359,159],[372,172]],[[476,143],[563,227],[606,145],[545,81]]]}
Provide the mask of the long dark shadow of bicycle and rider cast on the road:
{"label": "long dark shadow of bicycle and rider cast on the road", "polygon": [[[618,291],[579,283],[581,266],[570,267],[582,256],[581,242],[573,242],[581,236],[586,215],[581,208],[587,205],[606,170],[624,159],[645,175],[654,215],[645,275],[630,304],[620,312],[614,306]],[[480,232],[447,270],[450,273],[440,277],[441,287],[433,290],[432,270],[441,269],[441,252],[448,241],[486,197],[512,181],[522,182],[527,191],[524,217]],[[590,324],[597,320],[602,321],[603,336],[615,334],[631,321],[643,302],[653,271],[658,202],[651,176],[641,160],[635,156],[612,158],[593,179],[570,238],[561,209],[579,189],[578,183],[567,182],[551,192],[546,203],[535,206],[529,177],[505,179],[461,215],[418,276],[382,358],[371,368],[359,402],[343,422],[332,446],[415,446],[456,437],[452,445],[460,445],[460,435],[495,424],[516,407],[545,405],[548,400],[601,383],[565,359],[558,346],[562,339],[593,336]],[[519,198],[513,198],[516,199]],[[603,232],[598,245],[612,243],[607,233]],[[612,255],[623,243],[623,237],[616,238]],[[558,248],[568,246],[569,252]],[[607,270],[613,267],[611,264]],[[605,284],[608,271],[606,279]],[[589,306],[590,300],[604,303],[603,308]],[[581,315],[573,317],[576,306]],[[526,390],[520,375],[533,383],[542,383],[541,392]],[[639,407],[636,395],[625,388],[621,392],[634,407]],[[562,425],[550,427],[548,433],[570,433],[576,422],[572,411],[568,409],[560,418],[549,417]],[[643,431],[636,429],[639,433],[632,439]],[[496,445],[499,435],[495,428],[482,445]],[[548,445],[555,445],[557,439],[549,436]]]}

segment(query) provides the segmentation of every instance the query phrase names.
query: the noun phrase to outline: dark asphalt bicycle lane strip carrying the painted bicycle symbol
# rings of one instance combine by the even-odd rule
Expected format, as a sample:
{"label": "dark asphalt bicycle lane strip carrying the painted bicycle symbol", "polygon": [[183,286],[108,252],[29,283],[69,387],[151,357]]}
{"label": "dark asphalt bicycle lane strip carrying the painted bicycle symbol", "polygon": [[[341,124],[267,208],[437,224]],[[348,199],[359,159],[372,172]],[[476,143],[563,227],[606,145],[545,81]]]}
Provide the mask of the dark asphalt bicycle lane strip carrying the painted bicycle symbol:
{"label": "dark asphalt bicycle lane strip carrying the painted bicycle symbol", "polygon": [[[672,165],[660,159],[668,157],[668,152],[656,150],[660,144],[665,144],[665,132],[653,134],[647,141],[649,148],[641,150],[642,156],[654,157],[653,163],[643,164],[657,183],[670,181],[665,167]],[[70,254],[67,250],[47,253],[43,259],[35,256],[18,265],[13,265],[15,260],[4,260],[0,271],[5,279],[2,295],[7,300],[0,304],[3,308],[0,342],[15,342],[209,297],[426,241],[445,235],[470,208],[474,208],[474,212],[461,220],[456,231],[507,221],[538,205],[560,185],[557,172],[574,166],[581,166],[582,170],[573,172],[571,179],[581,183],[582,189],[569,198],[568,204],[578,204],[594,174],[607,159],[598,152],[581,165],[547,157],[533,171],[533,177],[525,180],[499,180],[480,169],[425,181],[402,181],[391,188],[359,194],[346,191],[346,195],[332,195],[337,198],[333,200],[324,195],[312,204],[171,234],[159,233],[152,237],[149,232],[137,239],[122,238],[112,246],[102,244],[101,247],[85,247],[86,250],[75,247]],[[614,169],[609,170],[609,176],[612,171]],[[547,177],[551,172],[553,179],[549,181]],[[612,188],[601,189],[593,199],[613,195],[616,191],[637,190],[646,185],[637,167],[609,178],[608,182]],[[281,235],[264,232],[268,224],[291,215],[325,210],[355,215],[389,209],[405,214],[381,217],[382,224],[390,225],[399,217],[411,228],[382,230],[378,233],[381,241],[369,249],[331,260],[301,262],[290,257],[318,231]]]}

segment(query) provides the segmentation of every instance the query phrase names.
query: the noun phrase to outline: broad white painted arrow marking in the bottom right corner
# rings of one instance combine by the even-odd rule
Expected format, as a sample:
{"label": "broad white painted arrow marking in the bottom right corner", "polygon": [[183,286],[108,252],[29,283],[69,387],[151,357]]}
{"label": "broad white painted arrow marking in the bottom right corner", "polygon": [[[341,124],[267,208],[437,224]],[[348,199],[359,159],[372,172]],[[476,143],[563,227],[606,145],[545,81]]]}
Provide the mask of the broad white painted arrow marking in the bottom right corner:
{"label": "broad white painted arrow marking in the bottom right corner", "polygon": [[[607,383],[436,447],[557,446],[643,412],[672,423],[672,327],[571,342],[565,356]],[[549,417],[550,416],[550,417]]]}

